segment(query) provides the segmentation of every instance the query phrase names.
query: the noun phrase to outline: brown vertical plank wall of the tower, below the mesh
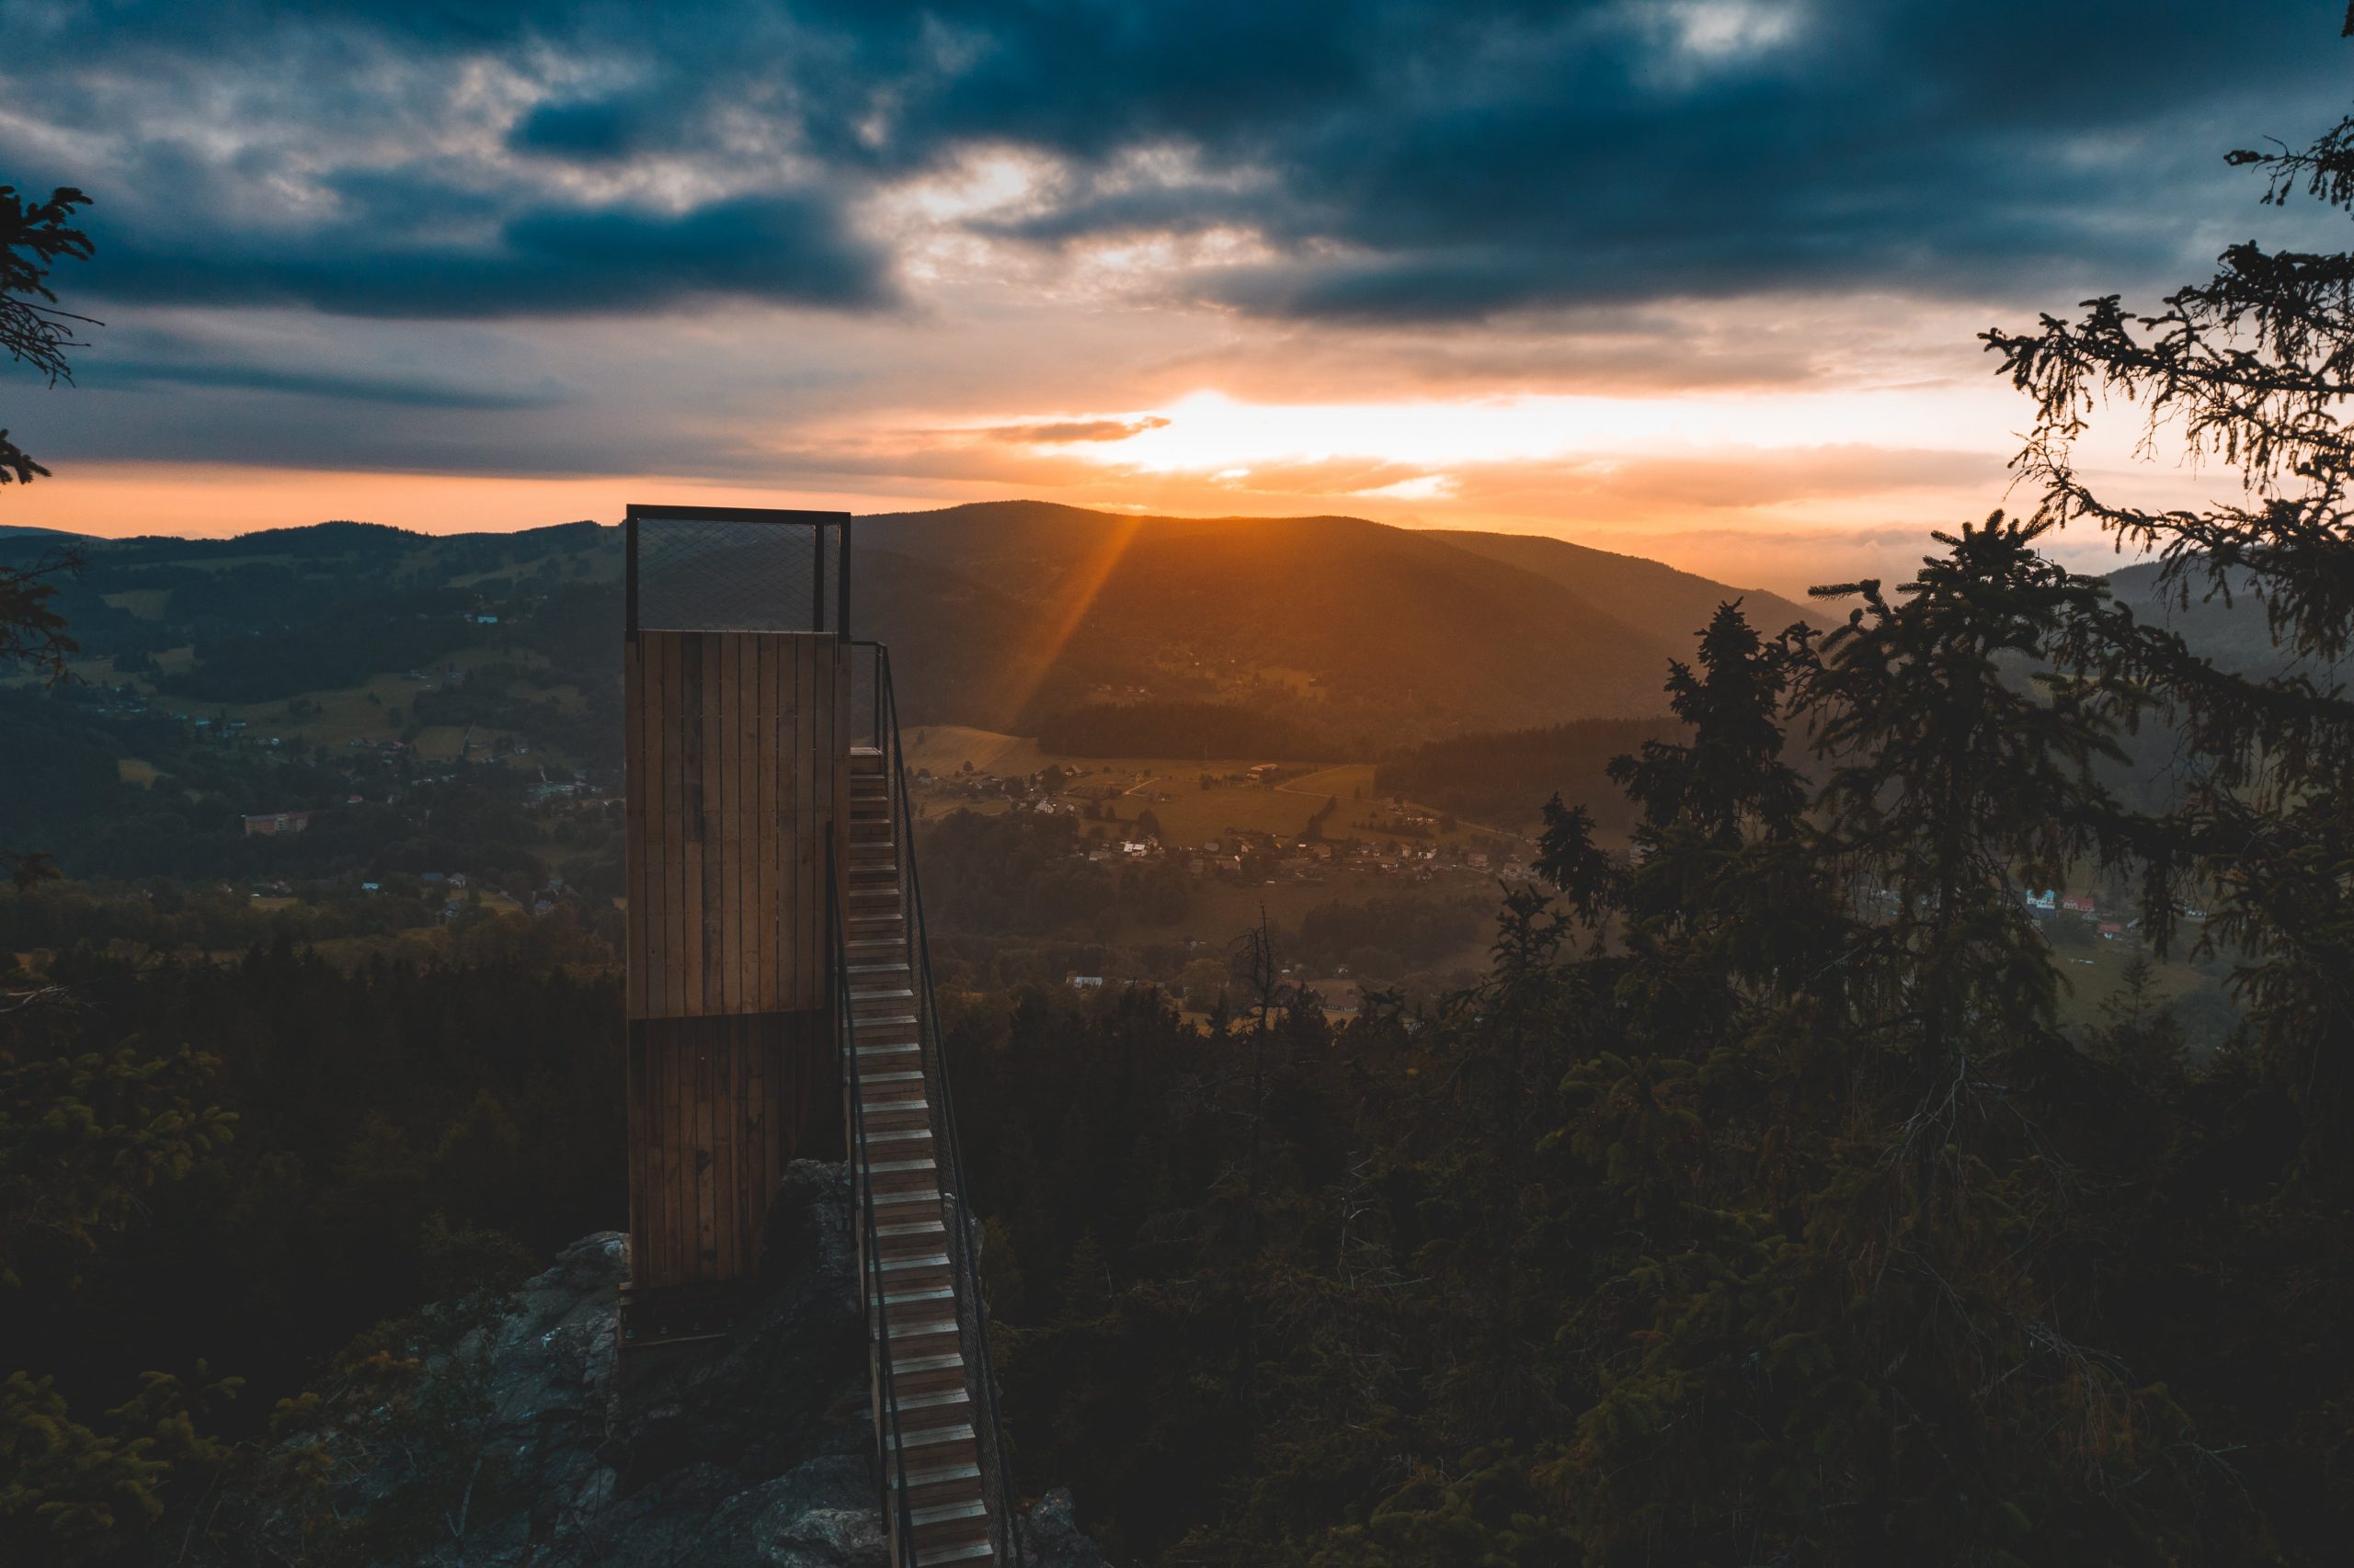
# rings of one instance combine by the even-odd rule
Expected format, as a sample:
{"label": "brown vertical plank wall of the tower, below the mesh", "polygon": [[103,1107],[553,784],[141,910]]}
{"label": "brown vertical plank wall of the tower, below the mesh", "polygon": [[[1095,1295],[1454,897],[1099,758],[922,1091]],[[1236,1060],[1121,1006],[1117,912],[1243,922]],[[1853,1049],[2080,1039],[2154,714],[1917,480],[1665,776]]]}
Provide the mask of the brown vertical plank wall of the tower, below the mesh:
{"label": "brown vertical plank wall of the tower, below the mesh", "polygon": [[758,1267],[784,1163],[840,1144],[826,826],[847,826],[831,636],[640,631],[624,650],[633,1278]]}

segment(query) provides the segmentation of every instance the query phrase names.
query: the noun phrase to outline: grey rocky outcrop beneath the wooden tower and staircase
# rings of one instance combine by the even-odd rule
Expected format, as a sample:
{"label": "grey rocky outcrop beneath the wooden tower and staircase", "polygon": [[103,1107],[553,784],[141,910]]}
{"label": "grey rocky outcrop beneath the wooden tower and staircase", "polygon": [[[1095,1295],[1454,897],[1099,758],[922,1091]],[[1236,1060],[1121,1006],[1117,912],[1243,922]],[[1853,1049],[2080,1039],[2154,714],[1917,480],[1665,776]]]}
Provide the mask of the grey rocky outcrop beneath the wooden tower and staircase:
{"label": "grey rocky outcrop beneath the wooden tower and staircase", "polygon": [[[614,1318],[629,1241],[572,1243],[428,1358],[428,1387],[410,1398],[424,1408],[431,1384],[447,1384],[438,1398],[466,1413],[461,1462],[414,1464],[414,1439],[370,1446],[403,1474],[344,1481],[339,1528],[372,1511],[414,1519],[358,1530],[360,1556],[435,1568],[883,1568],[843,1165],[786,1170],[767,1257],[734,1335],[636,1351],[624,1389]],[[440,1476],[431,1497],[412,1479],[426,1474]],[[1033,1568],[1104,1561],[1069,1493],[1022,1519],[1022,1542]]]}

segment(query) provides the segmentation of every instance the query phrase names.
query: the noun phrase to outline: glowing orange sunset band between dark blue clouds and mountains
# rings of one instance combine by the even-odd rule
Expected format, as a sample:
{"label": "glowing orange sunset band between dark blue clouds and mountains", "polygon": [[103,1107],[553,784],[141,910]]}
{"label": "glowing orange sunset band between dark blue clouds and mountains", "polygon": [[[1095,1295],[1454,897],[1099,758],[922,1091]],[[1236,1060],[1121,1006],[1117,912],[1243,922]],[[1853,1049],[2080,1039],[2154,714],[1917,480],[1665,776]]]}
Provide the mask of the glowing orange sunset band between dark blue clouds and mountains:
{"label": "glowing orange sunset band between dark blue clouds and mountains", "polygon": [[[1973,341],[1991,306],[1761,299],[1302,332],[1080,287],[1083,271],[1008,283],[975,257],[920,313],[727,311],[652,334],[158,313],[97,334],[82,384],[26,405],[21,428],[59,431],[42,447],[56,478],[0,492],[0,520],[447,532],[614,520],[645,499],[873,513],[1038,497],[1551,532],[1801,591],[1902,572],[1928,527],[2003,504],[2024,424]],[[530,365],[558,391],[386,417],[365,400],[153,388],[111,358],[146,332],[266,363],[459,365],[492,384]],[[607,372],[621,360],[633,374]],[[228,431],[242,461],[118,454],[169,452],[174,421]],[[647,447],[678,461],[629,461]]]}

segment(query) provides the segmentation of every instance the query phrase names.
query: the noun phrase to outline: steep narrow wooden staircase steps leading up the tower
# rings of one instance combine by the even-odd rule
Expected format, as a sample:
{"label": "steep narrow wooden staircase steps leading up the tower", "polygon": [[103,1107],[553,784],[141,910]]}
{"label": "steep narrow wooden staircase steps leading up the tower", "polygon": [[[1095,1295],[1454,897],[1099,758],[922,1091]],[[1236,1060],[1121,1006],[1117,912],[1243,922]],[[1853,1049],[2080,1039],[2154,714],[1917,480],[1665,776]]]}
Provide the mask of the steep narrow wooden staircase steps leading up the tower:
{"label": "steep narrow wooden staircase steps leading up the tower", "polygon": [[[883,1347],[869,1344],[873,1420],[885,1453],[890,1561],[930,1568],[991,1561],[996,1547],[975,1439],[975,1380],[963,1354],[965,1314],[975,1304],[958,1300],[949,1262],[949,1224],[956,1215],[942,1201],[932,1144],[937,1090],[923,1055],[916,932],[909,930],[899,864],[906,845],[897,843],[892,789],[883,753],[852,746],[850,845],[840,890],[850,1038],[857,1052],[855,1099],[847,1109],[852,1154],[866,1161],[873,1184],[880,1253],[876,1267],[859,1269],[859,1278],[878,1281],[869,1290],[880,1295],[880,1323],[890,1337],[890,1377],[883,1373]],[[847,1085],[850,1074],[843,1078]],[[864,1203],[855,1229],[864,1264]],[[871,1328],[873,1307],[869,1300]],[[892,1462],[892,1415],[904,1464]],[[913,1526],[911,1554],[899,1542],[902,1481],[906,1521]]]}

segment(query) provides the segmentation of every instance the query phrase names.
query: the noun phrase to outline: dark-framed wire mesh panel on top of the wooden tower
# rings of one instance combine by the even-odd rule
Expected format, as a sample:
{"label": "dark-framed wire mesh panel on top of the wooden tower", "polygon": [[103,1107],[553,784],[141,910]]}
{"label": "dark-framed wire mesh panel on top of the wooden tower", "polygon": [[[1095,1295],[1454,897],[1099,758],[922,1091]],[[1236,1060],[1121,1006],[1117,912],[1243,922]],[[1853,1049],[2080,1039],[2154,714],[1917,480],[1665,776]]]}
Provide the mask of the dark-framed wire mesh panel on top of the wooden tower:
{"label": "dark-framed wire mesh panel on top of the wooden tower", "polygon": [[631,506],[631,631],[845,631],[850,513]]}

